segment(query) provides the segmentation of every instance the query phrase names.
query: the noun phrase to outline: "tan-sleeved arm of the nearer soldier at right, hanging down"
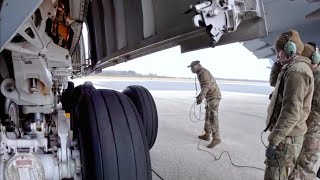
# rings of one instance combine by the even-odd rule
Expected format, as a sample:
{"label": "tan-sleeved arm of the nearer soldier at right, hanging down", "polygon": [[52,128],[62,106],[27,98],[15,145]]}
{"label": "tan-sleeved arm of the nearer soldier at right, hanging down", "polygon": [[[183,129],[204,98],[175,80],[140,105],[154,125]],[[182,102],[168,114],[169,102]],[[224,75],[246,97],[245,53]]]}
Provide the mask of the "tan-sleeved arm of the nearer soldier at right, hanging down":
{"label": "tan-sleeved arm of the nearer soldier at right, hanging down", "polygon": [[269,143],[274,146],[278,146],[299,122],[299,111],[303,106],[306,92],[313,82],[305,74],[288,72],[284,83],[281,112],[275,127],[268,137]]}

